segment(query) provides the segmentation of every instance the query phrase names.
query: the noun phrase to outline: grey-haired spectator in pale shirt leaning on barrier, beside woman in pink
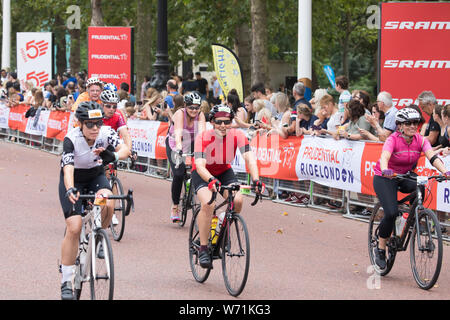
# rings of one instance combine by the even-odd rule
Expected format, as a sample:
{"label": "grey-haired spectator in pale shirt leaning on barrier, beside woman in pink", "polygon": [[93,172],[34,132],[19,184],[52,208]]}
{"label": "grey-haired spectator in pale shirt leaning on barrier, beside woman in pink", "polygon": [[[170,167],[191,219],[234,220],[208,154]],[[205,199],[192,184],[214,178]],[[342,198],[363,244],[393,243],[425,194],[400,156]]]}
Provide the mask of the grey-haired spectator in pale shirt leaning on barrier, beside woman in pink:
{"label": "grey-haired spectator in pale shirt leaning on barrier, beside woman in pink", "polygon": [[376,134],[380,141],[386,141],[386,139],[397,130],[397,124],[395,123],[395,115],[397,114],[397,108],[392,103],[392,96],[389,92],[382,91],[377,96],[377,104],[380,111],[384,112],[385,118],[383,127],[378,123],[373,115],[366,115],[366,120],[370,125],[376,129]]}

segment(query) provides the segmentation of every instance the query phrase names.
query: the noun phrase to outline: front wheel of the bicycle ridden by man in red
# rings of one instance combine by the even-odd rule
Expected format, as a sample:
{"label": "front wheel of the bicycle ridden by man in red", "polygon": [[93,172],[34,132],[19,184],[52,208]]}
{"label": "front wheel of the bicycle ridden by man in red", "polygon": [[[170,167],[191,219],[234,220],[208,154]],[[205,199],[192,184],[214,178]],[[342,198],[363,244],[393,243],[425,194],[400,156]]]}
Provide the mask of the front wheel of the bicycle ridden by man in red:
{"label": "front wheel of the bicycle ridden by man in red", "polygon": [[250,238],[247,225],[239,214],[224,226],[222,238],[222,274],[228,293],[237,297],[244,290],[250,267]]}

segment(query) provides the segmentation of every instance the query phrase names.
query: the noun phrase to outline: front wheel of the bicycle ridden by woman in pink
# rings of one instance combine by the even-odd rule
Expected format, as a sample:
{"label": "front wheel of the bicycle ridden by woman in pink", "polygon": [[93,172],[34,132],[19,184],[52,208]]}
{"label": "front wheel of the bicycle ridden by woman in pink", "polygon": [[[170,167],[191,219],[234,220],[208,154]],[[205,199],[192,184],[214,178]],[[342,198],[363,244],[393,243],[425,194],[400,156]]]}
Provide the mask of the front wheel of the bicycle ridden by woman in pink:
{"label": "front wheel of the bicycle ridden by woman in pink", "polygon": [[430,209],[418,212],[419,230],[414,222],[410,261],[414,280],[428,290],[436,283],[442,266],[442,232],[439,220]]}

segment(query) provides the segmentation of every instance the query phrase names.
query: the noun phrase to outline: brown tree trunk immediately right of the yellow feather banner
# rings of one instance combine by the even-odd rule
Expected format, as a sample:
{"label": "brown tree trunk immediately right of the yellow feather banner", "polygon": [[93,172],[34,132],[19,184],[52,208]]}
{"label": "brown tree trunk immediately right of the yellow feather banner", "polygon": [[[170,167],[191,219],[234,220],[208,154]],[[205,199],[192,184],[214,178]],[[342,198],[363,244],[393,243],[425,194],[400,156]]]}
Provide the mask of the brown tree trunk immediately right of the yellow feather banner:
{"label": "brown tree trunk immediately right of the yellow feather banner", "polygon": [[252,62],[252,40],[250,28],[247,24],[238,25],[235,29],[234,50],[241,63],[241,73],[244,86],[244,98],[250,94],[251,82],[251,62]]}

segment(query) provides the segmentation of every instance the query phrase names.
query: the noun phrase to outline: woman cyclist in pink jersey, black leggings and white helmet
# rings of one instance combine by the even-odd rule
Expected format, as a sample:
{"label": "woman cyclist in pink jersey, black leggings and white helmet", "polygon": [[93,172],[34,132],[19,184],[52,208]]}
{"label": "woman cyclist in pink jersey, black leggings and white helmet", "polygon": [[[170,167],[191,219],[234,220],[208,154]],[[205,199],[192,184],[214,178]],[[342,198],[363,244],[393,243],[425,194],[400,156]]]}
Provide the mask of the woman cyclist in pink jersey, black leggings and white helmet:
{"label": "woman cyclist in pink jersey, black leggings and white helmet", "polygon": [[446,170],[442,160],[435,155],[428,139],[417,132],[421,121],[422,118],[415,109],[403,108],[397,112],[397,131],[384,143],[380,160],[374,170],[373,187],[384,210],[384,217],[379,226],[379,245],[375,250],[375,262],[381,269],[386,268],[386,242],[398,216],[397,191],[411,193],[416,189],[414,181],[392,179],[394,174],[405,174],[414,170],[423,152],[436,169],[443,175],[450,176],[450,171]]}

